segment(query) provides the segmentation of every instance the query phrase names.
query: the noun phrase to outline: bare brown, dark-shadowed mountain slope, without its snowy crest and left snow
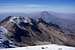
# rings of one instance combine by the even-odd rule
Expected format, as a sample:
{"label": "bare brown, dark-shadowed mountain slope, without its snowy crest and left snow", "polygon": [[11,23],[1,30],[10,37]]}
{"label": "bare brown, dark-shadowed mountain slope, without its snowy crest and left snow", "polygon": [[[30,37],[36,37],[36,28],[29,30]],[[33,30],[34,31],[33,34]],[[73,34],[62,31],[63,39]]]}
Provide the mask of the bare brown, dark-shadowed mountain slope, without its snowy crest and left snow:
{"label": "bare brown, dark-shadowed mountain slope, without its snowy crest and left snow", "polygon": [[41,18],[39,18],[38,21],[29,18],[30,23],[24,23],[24,21],[22,21],[19,22],[19,24],[18,22],[10,22],[10,19],[2,22],[1,26],[8,30],[6,37],[16,46],[21,47],[42,44],[62,44],[75,46],[75,40],[72,39],[70,35],[66,36],[64,32],[61,31],[61,28],[54,25],[51,26],[51,24],[49,25]]}

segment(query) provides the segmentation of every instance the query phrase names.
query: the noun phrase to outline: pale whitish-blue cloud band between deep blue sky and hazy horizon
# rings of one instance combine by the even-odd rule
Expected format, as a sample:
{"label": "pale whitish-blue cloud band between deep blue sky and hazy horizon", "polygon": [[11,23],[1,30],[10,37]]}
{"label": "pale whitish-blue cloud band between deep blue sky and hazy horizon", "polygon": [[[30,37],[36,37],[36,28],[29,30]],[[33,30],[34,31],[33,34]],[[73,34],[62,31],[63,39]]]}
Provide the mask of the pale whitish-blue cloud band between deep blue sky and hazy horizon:
{"label": "pale whitish-blue cloud band between deep blue sky and hazy horizon", "polygon": [[18,4],[18,5],[6,5],[0,6],[0,13],[32,13],[36,11],[54,11],[64,13],[74,13],[75,7],[69,6],[54,6],[54,5],[36,5],[36,4]]}

